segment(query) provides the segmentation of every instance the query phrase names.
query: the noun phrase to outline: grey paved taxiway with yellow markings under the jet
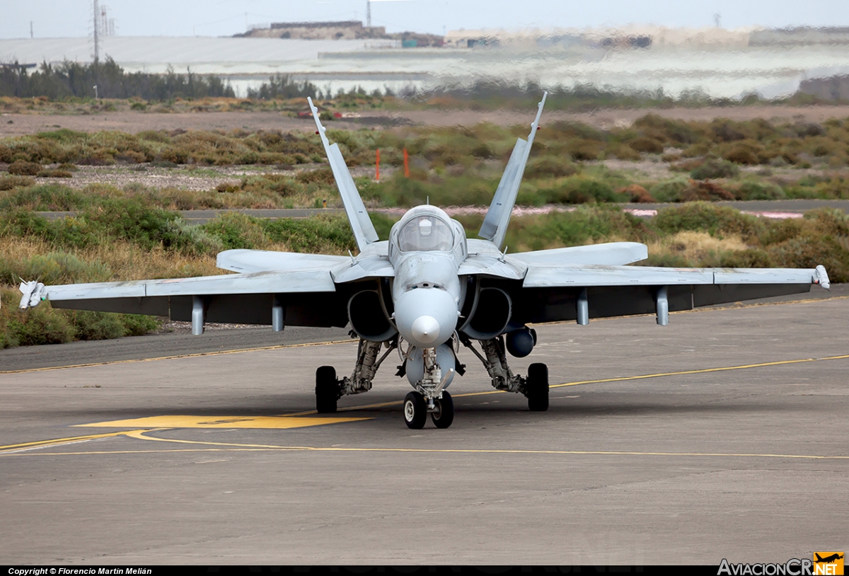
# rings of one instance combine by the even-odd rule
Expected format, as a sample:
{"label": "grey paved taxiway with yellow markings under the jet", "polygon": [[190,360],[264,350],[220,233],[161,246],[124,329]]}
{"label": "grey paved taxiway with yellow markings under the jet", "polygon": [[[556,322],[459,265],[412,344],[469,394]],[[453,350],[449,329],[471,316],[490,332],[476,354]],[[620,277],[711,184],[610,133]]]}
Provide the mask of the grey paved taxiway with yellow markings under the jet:
{"label": "grey paved taxiway with yellow markings under the jet", "polygon": [[548,412],[492,391],[461,351],[447,430],[404,426],[394,358],[335,418],[313,414],[316,366],[346,372],[353,342],[2,374],[0,562],[601,566],[845,551],[847,326],[845,294],[674,313],[666,327],[539,326],[513,366],[548,364]]}

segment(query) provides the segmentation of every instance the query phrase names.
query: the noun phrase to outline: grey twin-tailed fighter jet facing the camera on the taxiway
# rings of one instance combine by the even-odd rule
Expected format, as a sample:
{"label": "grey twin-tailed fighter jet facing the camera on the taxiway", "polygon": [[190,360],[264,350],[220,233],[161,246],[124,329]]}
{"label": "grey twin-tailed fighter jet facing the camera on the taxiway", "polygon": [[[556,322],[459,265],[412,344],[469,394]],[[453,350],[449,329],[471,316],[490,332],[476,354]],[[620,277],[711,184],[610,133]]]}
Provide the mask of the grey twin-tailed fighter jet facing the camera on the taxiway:
{"label": "grey twin-tailed fighter jet facing the camera on the taxiway", "polygon": [[217,266],[238,274],[174,280],[135,280],[45,286],[22,282],[20,308],[48,300],[53,308],[142,313],[205,322],[293,326],[351,326],[359,339],[351,376],[332,366],[316,371],[316,409],[335,412],[347,394],[368,392],[391,353],[398,376],[413,392],[404,398],[410,428],[430,419],[451,426],[447,387],[462,376],[460,347],[481,361],[492,386],[548,409],[548,368],[531,364],[526,376],[510,369],[508,354],[524,358],[537,344],[535,323],[669,313],[720,302],[829,288],[825,268],[731,269],[627,266],[648,257],[647,247],[615,242],[508,254],[502,248],[516,194],[539,127],[546,95],[528,138],[519,138],[489,206],[480,238],[437,206],[416,206],[379,240],[339,145],[330,144],[318,110],[307,99],[357,242],[351,257],[228,250]]}

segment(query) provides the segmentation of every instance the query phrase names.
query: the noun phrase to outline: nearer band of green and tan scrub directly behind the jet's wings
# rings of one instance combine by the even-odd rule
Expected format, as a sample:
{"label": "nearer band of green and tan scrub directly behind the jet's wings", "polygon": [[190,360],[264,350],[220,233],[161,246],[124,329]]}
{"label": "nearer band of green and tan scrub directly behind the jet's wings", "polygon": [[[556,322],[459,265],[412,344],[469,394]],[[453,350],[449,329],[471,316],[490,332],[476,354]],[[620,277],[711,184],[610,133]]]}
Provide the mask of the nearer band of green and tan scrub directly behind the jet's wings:
{"label": "nearer band of green and tan scrub directly behind the jet's wings", "polygon": [[[53,310],[20,312],[21,277],[45,284],[180,278],[227,274],[215,267],[218,251],[250,248],[346,254],[356,245],[346,218],[263,220],[224,213],[189,226],[176,212],[114,200],[112,214],[92,209],[48,221],[24,210],[0,215],[0,347],[141,334],[156,319]],[[123,203],[121,203],[123,202]],[[127,210],[142,217],[128,218]],[[146,211],[146,212],[144,212]],[[458,217],[470,238],[482,216]],[[380,238],[395,219],[373,214]],[[631,240],[649,246],[644,265],[674,267],[812,268],[823,264],[835,282],[849,281],[849,217],[832,209],[804,217],[768,220],[728,206],[691,202],[643,219],[616,206],[582,205],[571,212],[514,217],[505,243],[510,251],[540,250]]]}

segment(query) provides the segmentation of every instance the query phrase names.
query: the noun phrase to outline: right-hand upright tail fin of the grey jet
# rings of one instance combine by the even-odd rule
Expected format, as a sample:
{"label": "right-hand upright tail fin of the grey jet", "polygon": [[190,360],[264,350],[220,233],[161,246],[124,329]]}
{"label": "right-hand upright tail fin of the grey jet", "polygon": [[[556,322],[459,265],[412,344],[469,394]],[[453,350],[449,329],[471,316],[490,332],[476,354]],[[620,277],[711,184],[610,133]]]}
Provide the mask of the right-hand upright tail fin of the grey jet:
{"label": "right-hand upright tail fin of the grey jet", "polygon": [[531,133],[528,134],[528,139],[519,138],[516,141],[513,154],[510,155],[507,167],[504,168],[501,182],[498,183],[498,189],[495,191],[492,204],[489,205],[489,210],[483,219],[483,225],[481,225],[481,231],[478,233],[481,238],[492,240],[498,248],[501,248],[504,242],[504,234],[507,234],[510,214],[513,212],[516,195],[519,194],[519,186],[522,183],[522,177],[525,175],[525,165],[528,161],[528,155],[531,154],[533,139],[537,136],[539,118],[543,115],[543,106],[547,97],[548,92],[544,92],[543,100],[539,103],[537,109],[537,117],[531,124]]}

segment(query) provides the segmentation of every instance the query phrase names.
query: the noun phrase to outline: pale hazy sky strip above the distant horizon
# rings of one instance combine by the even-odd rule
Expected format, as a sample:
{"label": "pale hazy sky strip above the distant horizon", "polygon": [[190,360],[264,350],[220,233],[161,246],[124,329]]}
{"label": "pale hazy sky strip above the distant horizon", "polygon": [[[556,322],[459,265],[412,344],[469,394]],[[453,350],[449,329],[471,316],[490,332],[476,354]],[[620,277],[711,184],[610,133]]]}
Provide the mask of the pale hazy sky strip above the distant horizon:
{"label": "pale hazy sky strip above the distant horizon", "polygon": [[[91,0],[5,0],[0,37],[84,37]],[[365,0],[101,0],[118,36],[230,36],[246,26],[301,20],[365,20]],[[653,23],[849,25],[847,0],[374,0],[372,24],[387,31],[441,34],[458,28]]]}

